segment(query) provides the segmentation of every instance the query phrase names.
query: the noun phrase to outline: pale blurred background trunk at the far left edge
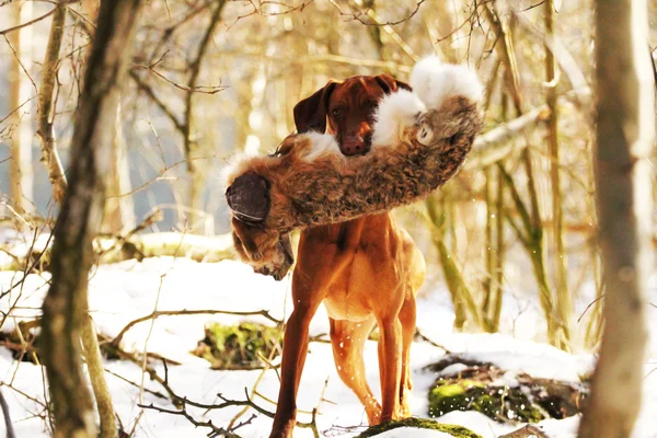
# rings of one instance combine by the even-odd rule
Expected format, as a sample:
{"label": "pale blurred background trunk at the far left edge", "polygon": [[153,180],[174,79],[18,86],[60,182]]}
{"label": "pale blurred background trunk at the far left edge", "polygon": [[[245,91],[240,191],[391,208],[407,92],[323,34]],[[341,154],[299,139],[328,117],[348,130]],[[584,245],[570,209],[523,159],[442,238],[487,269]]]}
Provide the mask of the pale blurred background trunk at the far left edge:
{"label": "pale blurred background trunk at the far left edge", "polygon": [[[32,20],[31,2],[16,1],[9,4],[9,9],[13,12],[15,25]],[[8,38],[14,50],[8,78],[9,110],[13,111],[27,103],[32,96],[32,83],[27,78],[32,68],[32,26],[10,33]],[[12,126],[10,197],[19,212],[32,210],[30,201],[34,199],[31,120],[28,104],[16,111],[10,120]]]}

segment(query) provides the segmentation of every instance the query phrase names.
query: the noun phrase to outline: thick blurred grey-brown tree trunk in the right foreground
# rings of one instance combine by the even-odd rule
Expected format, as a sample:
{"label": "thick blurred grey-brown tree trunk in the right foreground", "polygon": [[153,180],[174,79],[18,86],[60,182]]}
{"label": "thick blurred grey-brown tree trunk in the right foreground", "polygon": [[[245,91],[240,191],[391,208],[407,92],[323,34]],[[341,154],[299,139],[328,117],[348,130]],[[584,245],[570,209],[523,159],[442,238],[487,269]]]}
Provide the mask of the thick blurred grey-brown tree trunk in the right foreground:
{"label": "thick blurred grey-brown tree trunk in the right foreground", "polygon": [[596,194],[606,325],[584,438],[630,437],[641,407],[653,268],[654,79],[645,0],[596,1]]}

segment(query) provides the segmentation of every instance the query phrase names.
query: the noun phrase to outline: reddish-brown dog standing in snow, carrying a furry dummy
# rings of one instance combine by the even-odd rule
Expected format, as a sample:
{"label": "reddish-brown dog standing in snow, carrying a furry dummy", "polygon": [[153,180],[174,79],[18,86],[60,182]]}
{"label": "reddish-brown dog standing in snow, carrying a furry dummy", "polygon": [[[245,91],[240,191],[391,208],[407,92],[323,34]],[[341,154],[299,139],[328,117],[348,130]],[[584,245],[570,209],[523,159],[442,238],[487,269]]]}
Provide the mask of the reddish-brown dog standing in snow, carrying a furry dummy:
{"label": "reddish-brown dog standing in snow, carrying a furry dummy", "polygon": [[[328,131],[345,155],[371,147],[372,113],[385,93],[410,89],[388,74],[330,81],[295,106],[299,132]],[[411,415],[408,358],[415,333],[415,293],[425,262],[391,214],[366,216],[301,233],[292,275],[292,302],[284,339],[281,384],[270,437],[292,436],[309,325],[322,302],[331,324],[337,372],[365,406],[369,424]],[[362,348],[379,326],[382,403],[366,380]]]}

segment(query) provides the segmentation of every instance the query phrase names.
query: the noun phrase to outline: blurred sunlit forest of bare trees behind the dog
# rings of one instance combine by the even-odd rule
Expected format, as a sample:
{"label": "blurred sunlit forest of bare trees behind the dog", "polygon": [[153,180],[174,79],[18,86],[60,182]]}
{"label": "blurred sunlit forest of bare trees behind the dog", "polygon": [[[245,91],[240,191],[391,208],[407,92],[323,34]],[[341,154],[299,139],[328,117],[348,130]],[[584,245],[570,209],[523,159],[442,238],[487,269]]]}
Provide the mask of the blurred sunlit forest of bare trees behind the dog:
{"label": "blurred sunlit forest of bare trees behind the dog", "polygon": [[[0,1],[3,232],[51,229],[96,11],[93,0]],[[149,1],[116,114],[103,232],[227,233],[232,155],[273,151],[295,129],[295,104],[330,78],[407,80],[436,54],[479,72],[485,130],[511,123],[440,193],[397,211],[428,283],[446,280],[457,328],[497,331],[510,290],[540,300],[553,345],[595,346],[599,302],[585,314],[573,304],[591,279],[602,293],[592,14],[589,0]]]}

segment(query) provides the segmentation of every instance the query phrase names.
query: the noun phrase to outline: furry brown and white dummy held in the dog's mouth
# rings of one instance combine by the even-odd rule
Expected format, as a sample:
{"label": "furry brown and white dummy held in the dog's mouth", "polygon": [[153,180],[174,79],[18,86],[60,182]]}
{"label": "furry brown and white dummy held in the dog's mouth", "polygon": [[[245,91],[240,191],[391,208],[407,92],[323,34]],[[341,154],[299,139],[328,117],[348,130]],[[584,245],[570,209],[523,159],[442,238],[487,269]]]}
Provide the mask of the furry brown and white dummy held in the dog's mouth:
{"label": "furry brown and white dummy held in the dog's mouth", "polygon": [[428,58],[411,83],[414,92],[380,102],[365,155],[345,157],[332,135],[308,132],[229,170],[227,198],[244,262],[280,279],[293,261],[290,231],[414,203],[458,172],[483,124],[480,81],[465,67]]}

